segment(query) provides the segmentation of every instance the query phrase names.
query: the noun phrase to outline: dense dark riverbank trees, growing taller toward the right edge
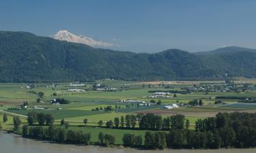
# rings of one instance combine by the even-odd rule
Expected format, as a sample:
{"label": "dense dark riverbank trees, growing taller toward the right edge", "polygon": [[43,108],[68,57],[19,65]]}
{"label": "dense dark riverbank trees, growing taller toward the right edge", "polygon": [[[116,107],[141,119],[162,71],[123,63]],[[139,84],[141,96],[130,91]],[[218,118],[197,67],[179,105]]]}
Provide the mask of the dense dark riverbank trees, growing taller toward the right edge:
{"label": "dense dark riverbank trees, growing taller toward the right edge", "polygon": [[[197,120],[195,131],[186,128],[171,128],[168,134],[147,132],[145,147],[151,149],[165,147],[253,148],[256,146],[255,120],[256,114],[218,113],[214,118]],[[161,139],[161,143],[159,143],[159,139]]]}

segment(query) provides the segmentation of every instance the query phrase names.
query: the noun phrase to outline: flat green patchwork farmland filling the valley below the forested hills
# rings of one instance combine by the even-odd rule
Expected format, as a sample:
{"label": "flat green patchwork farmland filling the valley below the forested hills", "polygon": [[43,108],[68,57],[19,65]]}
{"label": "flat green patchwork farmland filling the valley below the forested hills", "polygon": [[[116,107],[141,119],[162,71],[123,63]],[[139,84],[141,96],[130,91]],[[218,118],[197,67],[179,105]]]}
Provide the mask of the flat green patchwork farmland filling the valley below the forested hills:
{"label": "flat green patchwork farmland filling the valley below the forested hills", "polygon": [[[98,133],[102,131],[104,133],[113,133],[117,143],[122,144],[122,135],[124,133],[134,133],[135,135],[145,133],[145,131],[139,130],[106,129],[107,121],[121,118],[121,116],[128,114],[152,113],[162,117],[183,114],[186,119],[190,120],[190,129],[193,129],[195,128],[196,120],[215,116],[218,112],[256,112],[255,103],[238,103],[241,97],[256,97],[255,84],[250,80],[243,80],[245,82],[243,84],[238,80],[236,82],[236,88],[242,89],[233,90],[231,88],[223,91],[229,88],[224,81],[128,82],[97,80],[96,82],[85,82],[84,86],[70,86],[70,82],[56,84],[1,83],[0,109],[3,112],[0,112],[0,123],[3,129],[10,130],[12,129],[13,115],[27,116],[27,113],[31,111],[43,112],[52,114],[57,125],[64,118],[70,123],[70,129],[89,131],[93,137],[92,141],[96,141]],[[98,84],[103,87],[98,86]],[[246,89],[244,89],[244,84],[246,84]],[[206,91],[205,88],[212,89]],[[69,92],[69,89],[83,91]],[[170,92],[167,97],[153,97],[154,91],[177,92]],[[39,92],[43,92],[44,95],[40,97],[38,95]],[[216,99],[216,97],[224,98]],[[37,99],[40,99],[40,103],[37,102]],[[50,103],[52,99],[66,99],[70,103],[53,105]],[[188,105],[191,101],[199,101],[199,99],[201,99],[203,105]],[[121,102],[122,100],[145,101],[145,103],[150,103],[150,106]],[[28,105],[26,109],[20,107],[25,101],[28,103],[26,104]],[[163,109],[165,105],[172,104],[180,105],[180,107]],[[12,115],[8,116],[8,122],[2,122],[4,112]],[[27,122],[24,116],[21,116],[23,124]],[[83,123],[85,118],[88,120],[86,126]],[[100,120],[104,123],[102,127],[98,126]],[[138,127],[138,123],[139,121],[137,121],[136,127]]]}

